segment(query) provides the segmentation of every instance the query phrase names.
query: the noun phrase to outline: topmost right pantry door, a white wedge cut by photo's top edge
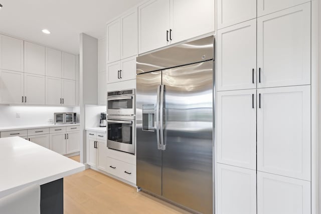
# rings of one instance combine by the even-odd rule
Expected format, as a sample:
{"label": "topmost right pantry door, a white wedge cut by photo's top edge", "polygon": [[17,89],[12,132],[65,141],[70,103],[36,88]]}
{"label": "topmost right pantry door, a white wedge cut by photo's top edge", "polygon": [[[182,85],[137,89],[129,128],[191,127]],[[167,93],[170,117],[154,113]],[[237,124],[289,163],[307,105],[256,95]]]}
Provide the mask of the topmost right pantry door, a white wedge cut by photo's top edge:
{"label": "topmost right pantry door, a white wedge cut by photo's top edge", "polygon": [[258,0],[257,16],[264,16],[306,2],[309,2],[309,0]]}

